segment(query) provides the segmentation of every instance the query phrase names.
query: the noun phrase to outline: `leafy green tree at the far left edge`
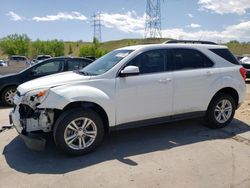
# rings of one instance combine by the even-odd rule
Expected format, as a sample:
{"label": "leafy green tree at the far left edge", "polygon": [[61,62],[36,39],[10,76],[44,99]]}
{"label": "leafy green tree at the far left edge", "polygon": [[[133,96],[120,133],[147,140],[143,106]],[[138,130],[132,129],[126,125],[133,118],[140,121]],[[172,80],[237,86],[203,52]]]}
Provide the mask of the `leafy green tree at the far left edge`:
{"label": "leafy green tree at the far left edge", "polygon": [[11,55],[25,55],[28,56],[30,49],[30,38],[25,35],[8,35],[0,41],[2,51]]}

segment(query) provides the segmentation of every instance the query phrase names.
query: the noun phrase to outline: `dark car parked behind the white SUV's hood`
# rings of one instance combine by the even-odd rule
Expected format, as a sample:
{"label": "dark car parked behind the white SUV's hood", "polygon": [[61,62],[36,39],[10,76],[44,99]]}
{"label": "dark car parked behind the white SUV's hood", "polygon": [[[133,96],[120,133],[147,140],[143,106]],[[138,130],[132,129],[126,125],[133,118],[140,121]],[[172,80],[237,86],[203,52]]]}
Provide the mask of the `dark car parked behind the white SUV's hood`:
{"label": "dark car parked behind the white SUV's hood", "polygon": [[81,69],[93,60],[87,58],[56,57],[37,63],[19,73],[0,77],[0,97],[4,105],[12,105],[18,85],[55,73]]}

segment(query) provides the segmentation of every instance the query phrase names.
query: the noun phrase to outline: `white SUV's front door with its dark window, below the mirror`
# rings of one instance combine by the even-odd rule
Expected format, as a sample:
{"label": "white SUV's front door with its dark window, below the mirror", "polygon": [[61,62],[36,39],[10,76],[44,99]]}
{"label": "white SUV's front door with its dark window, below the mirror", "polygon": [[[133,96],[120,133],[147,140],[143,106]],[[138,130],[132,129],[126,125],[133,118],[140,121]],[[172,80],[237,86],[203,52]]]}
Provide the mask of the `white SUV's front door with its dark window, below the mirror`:
{"label": "white SUV's front door with its dark window, below the mirror", "polygon": [[116,78],[116,124],[168,117],[173,111],[173,76],[166,50],[144,52],[127,66],[139,75]]}

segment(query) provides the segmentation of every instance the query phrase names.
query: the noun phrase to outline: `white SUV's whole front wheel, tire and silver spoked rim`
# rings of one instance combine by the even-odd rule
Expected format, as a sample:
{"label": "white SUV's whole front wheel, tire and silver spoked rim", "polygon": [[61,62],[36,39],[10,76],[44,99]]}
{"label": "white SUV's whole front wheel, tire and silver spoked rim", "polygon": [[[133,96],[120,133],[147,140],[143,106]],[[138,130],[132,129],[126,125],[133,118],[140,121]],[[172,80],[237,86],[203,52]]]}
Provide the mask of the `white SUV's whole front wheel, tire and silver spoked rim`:
{"label": "white SUV's whole front wheel, tire and silver spoked rim", "polygon": [[[89,125],[83,128],[85,121]],[[53,136],[55,144],[64,153],[84,155],[103,141],[103,121],[95,111],[75,108],[58,118],[53,128]]]}

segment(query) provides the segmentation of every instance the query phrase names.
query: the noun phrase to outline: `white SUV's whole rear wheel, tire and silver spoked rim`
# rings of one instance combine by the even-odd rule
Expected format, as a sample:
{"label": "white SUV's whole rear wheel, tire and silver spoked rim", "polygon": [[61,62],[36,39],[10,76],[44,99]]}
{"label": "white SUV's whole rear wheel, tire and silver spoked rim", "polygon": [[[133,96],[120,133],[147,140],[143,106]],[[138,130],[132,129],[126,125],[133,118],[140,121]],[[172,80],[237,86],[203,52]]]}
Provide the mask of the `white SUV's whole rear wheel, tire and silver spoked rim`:
{"label": "white SUV's whole rear wheel, tire and silver spoked rim", "polygon": [[[224,111],[223,105],[225,106]],[[225,93],[216,95],[212,99],[207,109],[205,117],[206,125],[212,129],[223,128],[227,126],[233,120],[235,110],[236,102],[231,95]]]}

